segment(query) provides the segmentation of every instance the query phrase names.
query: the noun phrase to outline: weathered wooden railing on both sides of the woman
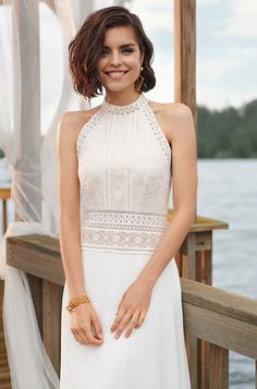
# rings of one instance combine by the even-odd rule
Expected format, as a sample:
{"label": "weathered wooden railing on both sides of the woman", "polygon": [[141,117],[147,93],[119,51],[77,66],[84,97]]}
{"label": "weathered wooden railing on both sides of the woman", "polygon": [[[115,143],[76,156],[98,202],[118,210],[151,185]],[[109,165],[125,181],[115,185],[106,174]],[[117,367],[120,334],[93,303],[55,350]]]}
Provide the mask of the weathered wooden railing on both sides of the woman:
{"label": "weathered wooden railing on both sides of the woman", "polygon": [[[10,236],[7,251],[8,264],[27,273],[42,340],[60,373],[64,273],[59,241],[41,235]],[[181,278],[181,285],[185,336],[206,342],[209,368],[205,372],[204,387],[227,389],[229,350],[257,360],[257,301],[184,278]],[[192,344],[187,342],[192,388],[199,389],[203,382],[199,386],[195,368],[192,368],[199,369],[199,361],[197,353],[188,350]]]}

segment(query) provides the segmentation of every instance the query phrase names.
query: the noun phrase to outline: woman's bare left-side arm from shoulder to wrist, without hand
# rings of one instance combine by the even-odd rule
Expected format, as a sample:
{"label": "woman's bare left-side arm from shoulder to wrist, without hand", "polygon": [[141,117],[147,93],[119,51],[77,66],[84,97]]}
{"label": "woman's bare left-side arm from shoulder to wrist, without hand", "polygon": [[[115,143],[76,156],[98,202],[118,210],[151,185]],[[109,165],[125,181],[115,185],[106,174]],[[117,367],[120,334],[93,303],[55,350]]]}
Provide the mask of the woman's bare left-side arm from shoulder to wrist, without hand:
{"label": "woman's bare left-side arm from shoulder to wrist, without hand", "polygon": [[79,185],[77,177],[77,119],[64,113],[57,130],[57,185],[60,248],[70,299],[85,294],[79,246]]}

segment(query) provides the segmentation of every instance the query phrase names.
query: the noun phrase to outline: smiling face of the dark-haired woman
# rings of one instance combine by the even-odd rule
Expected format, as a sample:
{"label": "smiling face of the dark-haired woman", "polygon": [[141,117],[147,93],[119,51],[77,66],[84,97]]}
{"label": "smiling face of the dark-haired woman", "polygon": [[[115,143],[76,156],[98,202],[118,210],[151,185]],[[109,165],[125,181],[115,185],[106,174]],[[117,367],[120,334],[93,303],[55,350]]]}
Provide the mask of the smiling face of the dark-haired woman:
{"label": "smiling face of the dark-haired woman", "polygon": [[97,64],[98,80],[107,90],[119,92],[130,86],[140,73],[143,56],[131,26],[109,27],[105,34],[101,57]]}

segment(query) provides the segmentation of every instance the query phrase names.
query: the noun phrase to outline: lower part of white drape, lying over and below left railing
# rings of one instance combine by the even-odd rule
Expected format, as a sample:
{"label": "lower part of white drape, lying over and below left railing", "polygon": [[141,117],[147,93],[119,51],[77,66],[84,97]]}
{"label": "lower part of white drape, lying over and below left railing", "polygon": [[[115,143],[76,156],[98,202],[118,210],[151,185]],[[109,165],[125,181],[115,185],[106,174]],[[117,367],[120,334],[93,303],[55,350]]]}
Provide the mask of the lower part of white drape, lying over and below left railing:
{"label": "lower part of white drape, lying over and below left railing", "polygon": [[[22,234],[49,234],[42,223],[13,222],[5,238]],[[1,245],[4,260],[5,239]],[[12,388],[59,388],[59,377],[47,355],[37,325],[26,273],[4,267],[3,328]]]}

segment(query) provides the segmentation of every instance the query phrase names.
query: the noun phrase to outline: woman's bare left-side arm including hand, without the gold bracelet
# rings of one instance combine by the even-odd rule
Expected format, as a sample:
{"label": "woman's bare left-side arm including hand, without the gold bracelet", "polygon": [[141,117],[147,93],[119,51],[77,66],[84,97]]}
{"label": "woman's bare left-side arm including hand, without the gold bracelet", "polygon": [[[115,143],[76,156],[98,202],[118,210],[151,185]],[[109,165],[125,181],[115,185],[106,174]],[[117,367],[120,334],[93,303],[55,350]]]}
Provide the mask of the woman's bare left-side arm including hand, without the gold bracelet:
{"label": "woman's bare left-side arm including hand, without the gold bracelet", "polygon": [[[66,112],[60,118],[57,131],[59,238],[70,299],[86,294],[79,242],[76,155],[76,138],[84,124],[85,116],[79,118],[78,113]],[[81,344],[100,345],[103,342],[101,324],[91,304],[79,304],[74,308],[71,314],[71,330]]]}

